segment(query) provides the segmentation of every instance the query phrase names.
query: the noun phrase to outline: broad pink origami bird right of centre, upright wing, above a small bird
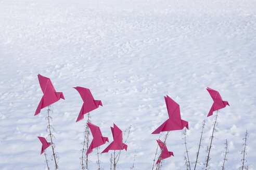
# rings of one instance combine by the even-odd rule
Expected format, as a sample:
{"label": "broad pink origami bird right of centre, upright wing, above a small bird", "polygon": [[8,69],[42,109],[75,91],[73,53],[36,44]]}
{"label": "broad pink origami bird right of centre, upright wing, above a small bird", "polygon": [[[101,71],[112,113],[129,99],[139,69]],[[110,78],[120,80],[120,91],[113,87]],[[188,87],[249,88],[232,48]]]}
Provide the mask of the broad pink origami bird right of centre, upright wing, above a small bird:
{"label": "broad pink origami bird right of centre, upright wing, above a small bird", "polygon": [[188,122],[181,119],[180,105],[174,102],[168,95],[165,97],[165,104],[169,119],[158,127],[152,134],[159,134],[164,131],[182,130],[184,127],[188,129]]}

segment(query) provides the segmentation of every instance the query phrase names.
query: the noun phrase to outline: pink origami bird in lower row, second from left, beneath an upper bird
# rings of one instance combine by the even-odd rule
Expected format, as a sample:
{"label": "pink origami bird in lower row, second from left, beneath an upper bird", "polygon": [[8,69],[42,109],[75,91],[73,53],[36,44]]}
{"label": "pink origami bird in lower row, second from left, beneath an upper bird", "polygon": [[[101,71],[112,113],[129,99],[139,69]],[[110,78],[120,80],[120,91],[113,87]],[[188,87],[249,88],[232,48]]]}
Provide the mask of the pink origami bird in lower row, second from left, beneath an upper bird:
{"label": "pink origami bird in lower row, second from left, beneath an upper bird", "polygon": [[102,136],[98,126],[96,126],[92,123],[87,123],[87,124],[88,124],[89,129],[91,130],[91,132],[93,134],[93,141],[92,141],[91,145],[89,146],[86,155],[93,152],[94,148],[97,148],[101,145],[104,145],[104,144],[106,144],[106,141],[108,141],[107,137]]}

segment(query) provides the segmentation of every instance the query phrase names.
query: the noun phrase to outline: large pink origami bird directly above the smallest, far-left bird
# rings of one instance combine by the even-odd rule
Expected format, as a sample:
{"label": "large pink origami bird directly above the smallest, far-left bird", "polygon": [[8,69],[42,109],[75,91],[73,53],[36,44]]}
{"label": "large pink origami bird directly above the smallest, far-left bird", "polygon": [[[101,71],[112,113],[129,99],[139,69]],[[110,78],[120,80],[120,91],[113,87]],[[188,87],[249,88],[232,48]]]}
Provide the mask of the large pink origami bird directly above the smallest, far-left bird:
{"label": "large pink origami bird directly above the smallest, far-left bird", "polygon": [[59,101],[60,98],[65,100],[62,92],[56,92],[49,78],[41,76],[40,74],[37,76],[44,95],[36,108],[35,115],[39,114],[42,108]]}

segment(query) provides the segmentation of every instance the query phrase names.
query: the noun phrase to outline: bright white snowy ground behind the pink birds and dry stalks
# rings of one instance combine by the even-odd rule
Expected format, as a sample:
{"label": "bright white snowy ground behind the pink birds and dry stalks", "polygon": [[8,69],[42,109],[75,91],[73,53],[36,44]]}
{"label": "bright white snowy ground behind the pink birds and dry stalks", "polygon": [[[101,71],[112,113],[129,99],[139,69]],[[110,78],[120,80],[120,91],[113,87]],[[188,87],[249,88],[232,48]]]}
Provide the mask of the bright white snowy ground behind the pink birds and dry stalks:
{"label": "bright white snowy ground behind the pink birds and dry stalks", "polygon": [[[113,122],[123,131],[131,125],[118,169],[130,169],[134,150],[134,169],[151,169],[159,137],[151,132],[168,119],[164,95],[180,104],[189,122],[194,167],[201,122],[212,105],[206,87],[231,105],[219,112],[211,169],[221,169],[225,139],[226,169],[241,166],[246,129],[246,164],[256,169],[255,9],[255,0],[0,1],[0,169],[46,168],[36,137],[47,136],[46,109],[34,116],[42,97],[39,73],[66,98],[52,105],[60,169],[80,167],[85,120],[75,123],[82,106],[75,86],[103,102],[91,120],[110,142]],[[206,119],[198,169],[213,120]],[[175,157],[162,169],[185,169],[183,132],[170,132],[167,147]],[[110,153],[100,155],[104,169]],[[96,169],[96,150],[89,159],[89,169]]]}

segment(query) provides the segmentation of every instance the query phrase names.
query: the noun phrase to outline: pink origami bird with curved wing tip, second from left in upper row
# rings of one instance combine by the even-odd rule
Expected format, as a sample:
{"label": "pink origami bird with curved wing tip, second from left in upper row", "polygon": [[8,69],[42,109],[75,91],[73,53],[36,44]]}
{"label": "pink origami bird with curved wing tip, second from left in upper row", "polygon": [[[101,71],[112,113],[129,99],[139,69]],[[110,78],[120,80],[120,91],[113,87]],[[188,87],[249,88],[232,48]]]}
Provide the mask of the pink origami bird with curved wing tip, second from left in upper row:
{"label": "pink origami bird with curved wing tip, second from left in upper row", "polygon": [[101,101],[96,101],[93,98],[93,95],[89,89],[82,88],[82,87],[75,87],[75,90],[79,92],[81,95],[84,104],[80,110],[80,113],[78,115],[78,119],[76,119],[76,122],[82,120],[84,118],[84,115],[87,114],[87,112],[92,111],[100,106],[103,106]]}

